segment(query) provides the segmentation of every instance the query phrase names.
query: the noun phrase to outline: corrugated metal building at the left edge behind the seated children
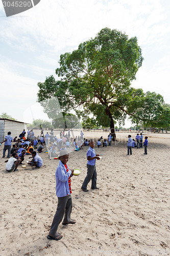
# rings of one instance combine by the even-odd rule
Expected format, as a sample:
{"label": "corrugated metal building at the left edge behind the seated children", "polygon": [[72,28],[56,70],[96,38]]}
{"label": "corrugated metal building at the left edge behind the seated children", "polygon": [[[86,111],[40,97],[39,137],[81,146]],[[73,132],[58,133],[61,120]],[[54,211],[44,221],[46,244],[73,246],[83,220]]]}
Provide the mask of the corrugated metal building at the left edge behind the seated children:
{"label": "corrugated metal building at the left edge behind the seated children", "polygon": [[12,138],[19,136],[19,134],[25,129],[27,131],[27,123],[0,118],[0,142],[4,141],[8,132],[11,132]]}

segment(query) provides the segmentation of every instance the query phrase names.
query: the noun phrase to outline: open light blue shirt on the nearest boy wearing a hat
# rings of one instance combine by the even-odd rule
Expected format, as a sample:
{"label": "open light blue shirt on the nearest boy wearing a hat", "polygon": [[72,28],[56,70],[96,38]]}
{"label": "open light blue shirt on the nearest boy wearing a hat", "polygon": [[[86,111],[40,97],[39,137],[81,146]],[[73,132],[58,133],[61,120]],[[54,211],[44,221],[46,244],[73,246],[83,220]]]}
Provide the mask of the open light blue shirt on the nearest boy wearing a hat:
{"label": "open light blue shirt on the nearest boy wearing a hat", "polygon": [[68,178],[71,175],[71,170],[68,172],[64,164],[60,161],[56,169],[56,195],[57,197],[66,197],[70,195]]}

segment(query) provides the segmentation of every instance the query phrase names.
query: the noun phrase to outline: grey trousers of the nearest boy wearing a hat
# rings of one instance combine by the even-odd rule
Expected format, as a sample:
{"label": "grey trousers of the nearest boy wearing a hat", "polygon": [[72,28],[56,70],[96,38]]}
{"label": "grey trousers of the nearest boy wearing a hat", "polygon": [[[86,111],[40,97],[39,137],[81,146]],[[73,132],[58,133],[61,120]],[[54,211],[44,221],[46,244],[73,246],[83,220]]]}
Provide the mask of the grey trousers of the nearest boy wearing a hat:
{"label": "grey trousers of the nearest boy wearing a hat", "polygon": [[56,214],[54,216],[52,226],[50,229],[49,234],[52,236],[56,235],[58,225],[63,219],[64,223],[68,223],[70,221],[70,216],[71,216],[71,210],[72,210],[72,199],[71,195],[68,195],[66,197],[58,197],[58,205],[57,205],[57,210]]}

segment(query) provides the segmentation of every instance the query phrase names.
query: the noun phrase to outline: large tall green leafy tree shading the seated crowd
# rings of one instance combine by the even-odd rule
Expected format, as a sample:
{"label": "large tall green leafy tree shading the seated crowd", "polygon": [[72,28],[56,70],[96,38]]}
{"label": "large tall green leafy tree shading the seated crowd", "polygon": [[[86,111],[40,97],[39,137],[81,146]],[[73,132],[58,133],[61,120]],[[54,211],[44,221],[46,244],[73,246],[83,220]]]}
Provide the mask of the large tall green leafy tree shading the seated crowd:
{"label": "large tall green leafy tree shading the seated crowd", "polygon": [[[115,139],[115,120],[125,120],[129,102],[137,91],[130,88],[142,65],[137,38],[109,28],[79,45],[72,53],[60,56],[56,74],[39,82],[38,101],[58,97],[62,112],[79,107],[93,114],[99,124],[109,126]],[[134,105],[134,104],[133,104]]]}

